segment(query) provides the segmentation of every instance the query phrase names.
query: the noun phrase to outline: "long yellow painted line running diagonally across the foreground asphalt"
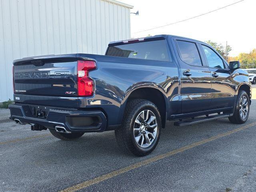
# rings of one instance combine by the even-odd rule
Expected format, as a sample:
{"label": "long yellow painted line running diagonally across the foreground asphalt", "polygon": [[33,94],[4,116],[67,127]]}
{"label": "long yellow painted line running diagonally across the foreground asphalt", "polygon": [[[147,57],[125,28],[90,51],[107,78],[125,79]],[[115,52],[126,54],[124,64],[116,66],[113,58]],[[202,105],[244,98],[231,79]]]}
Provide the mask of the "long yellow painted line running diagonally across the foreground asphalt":
{"label": "long yellow painted line running diagonally across the foreground asphalt", "polygon": [[221,138],[221,137],[224,137],[224,136],[228,136],[232,133],[236,133],[238,131],[241,131],[243,129],[246,129],[246,128],[249,128],[251,126],[254,126],[256,125],[256,122],[254,123],[251,123],[251,124],[248,124],[248,125],[245,125],[245,126],[242,126],[240,128],[237,128],[237,129],[234,129],[232,131],[228,131],[228,132],[225,132],[225,133],[222,133],[222,134],[219,134],[219,135],[216,135],[216,136],[213,136],[213,137],[210,137],[208,139],[204,139],[204,140],[201,140],[201,141],[198,141],[198,142],[195,142],[193,144],[190,144],[190,145],[187,145],[187,146],[184,146],[182,148],[179,148],[179,149],[176,149],[176,150],[173,150],[173,151],[170,151],[170,152],[167,152],[167,153],[164,153],[164,154],[161,154],[161,155],[158,155],[158,156],[155,156],[155,157],[152,157],[152,158],[149,158],[147,160],[144,160],[144,161],[141,161],[141,162],[138,162],[138,163],[135,163],[135,164],[132,164],[128,167],[124,167],[124,168],[121,168],[119,170],[116,170],[116,171],[113,171],[113,172],[110,172],[108,174],[105,174],[105,175],[102,175],[102,176],[99,176],[99,177],[96,177],[94,179],[91,179],[91,180],[87,180],[85,182],[82,182],[80,184],[77,184],[77,185],[74,185],[74,186],[71,186],[69,188],[66,188],[64,190],[61,190],[60,192],[74,192],[74,191],[77,191],[77,190],[81,190],[83,188],[86,188],[86,187],[89,187],[91,185],[94,185],[94,184],[97,184],[99,182],[102,182],[104,180],[107,180],[107,179],[110,179],[110,178],[113,178],[114,176],[118,176],[120,174],[123,174],[125,172],[128,172],[130,170],[134,170],[136,168],[139,168],[141,166],[144,166],[144,165],[147,165],[149,163],[152,163],[152,162],[156,162],[158,160],[161,160],[163,158],[166,158],[166,157],[169,157],[169,156],[172,156],[174,154],[177,154],[177,153],[180,153],[180,152],[184,152],[188,149],[191,149],[193,147],[196,147],[196,146],[199,146],[199,145],[202,145],[202,144],[205,144],[207,142],[210,142],[212,140],[216,140],[218,138]]}

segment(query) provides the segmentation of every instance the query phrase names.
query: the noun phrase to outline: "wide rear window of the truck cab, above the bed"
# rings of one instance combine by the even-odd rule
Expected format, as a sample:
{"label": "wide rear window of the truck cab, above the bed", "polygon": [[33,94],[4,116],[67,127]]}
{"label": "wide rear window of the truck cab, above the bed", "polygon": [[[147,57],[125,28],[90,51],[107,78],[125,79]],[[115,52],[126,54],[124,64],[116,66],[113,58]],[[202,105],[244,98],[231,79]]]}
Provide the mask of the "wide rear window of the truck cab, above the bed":
{"label": "wide rear window of the truck cab, above the bed", "polygon": [[106,55],[136,59],[169,61],[165,40],[110,46],[108,47],[108,52]]}

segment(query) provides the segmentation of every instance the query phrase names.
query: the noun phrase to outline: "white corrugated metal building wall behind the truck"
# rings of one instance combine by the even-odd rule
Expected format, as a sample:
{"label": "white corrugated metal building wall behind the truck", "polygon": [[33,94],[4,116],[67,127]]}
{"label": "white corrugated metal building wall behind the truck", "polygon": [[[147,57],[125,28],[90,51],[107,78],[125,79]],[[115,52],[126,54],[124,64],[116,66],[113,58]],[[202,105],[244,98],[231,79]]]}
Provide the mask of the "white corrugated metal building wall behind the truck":
{"label": "white corrugated metal building wall behind the truck", "polygon": [[130,8],[114,0],[0,0],[0,102],[13,99],[13,60],[104,54],[110,41],[130,38]]}

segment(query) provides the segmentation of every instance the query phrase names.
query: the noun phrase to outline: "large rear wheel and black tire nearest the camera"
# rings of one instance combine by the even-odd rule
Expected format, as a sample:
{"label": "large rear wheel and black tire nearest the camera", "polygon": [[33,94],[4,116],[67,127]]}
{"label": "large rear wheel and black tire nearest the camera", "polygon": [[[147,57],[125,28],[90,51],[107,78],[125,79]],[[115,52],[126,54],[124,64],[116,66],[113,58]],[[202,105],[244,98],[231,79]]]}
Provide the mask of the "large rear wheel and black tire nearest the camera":
{"label": "large rear wheel and black tire nearest the camera", "polygon": [[126,104],[122,126],[115,130],[116,141],[125,152],[145,156],[156,148],[161,127],[160,112],[154,103],[131,100]]}

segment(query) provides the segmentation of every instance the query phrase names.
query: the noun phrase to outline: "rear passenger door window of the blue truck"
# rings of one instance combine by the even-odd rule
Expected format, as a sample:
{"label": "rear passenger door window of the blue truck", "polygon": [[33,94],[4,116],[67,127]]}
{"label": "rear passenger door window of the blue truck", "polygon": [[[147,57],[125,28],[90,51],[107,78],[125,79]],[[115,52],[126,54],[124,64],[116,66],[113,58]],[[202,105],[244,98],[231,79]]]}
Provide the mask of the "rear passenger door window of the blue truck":
{"label": "rear passenger door window of the blue truck", "polygon": [[177,40],[177,44],[180,57],[185,63],[202,66],[202,61],[195,43]]}

